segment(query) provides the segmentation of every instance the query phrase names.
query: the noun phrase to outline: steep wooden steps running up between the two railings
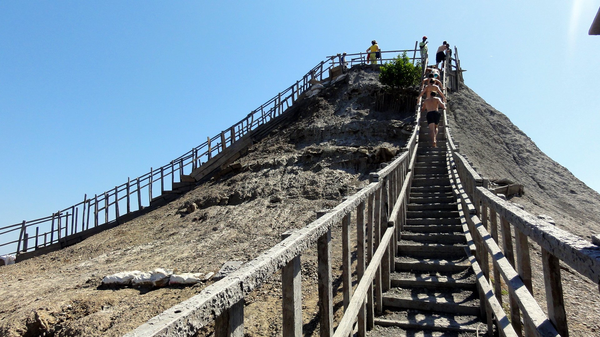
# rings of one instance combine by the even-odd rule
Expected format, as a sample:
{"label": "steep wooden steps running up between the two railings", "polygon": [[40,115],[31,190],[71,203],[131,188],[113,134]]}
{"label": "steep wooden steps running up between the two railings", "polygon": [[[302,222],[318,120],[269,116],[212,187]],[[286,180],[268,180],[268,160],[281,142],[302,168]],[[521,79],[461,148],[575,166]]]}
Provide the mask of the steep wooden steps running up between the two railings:
{"label": "steep wooden steps running up between the two railings", "polygon": [[[446,167],[445,142],[430,148],[421,123],[410,201],[391,288],[370,336],[487,335],[475,273]],[[385,287],[384,289],[385,290]]]}

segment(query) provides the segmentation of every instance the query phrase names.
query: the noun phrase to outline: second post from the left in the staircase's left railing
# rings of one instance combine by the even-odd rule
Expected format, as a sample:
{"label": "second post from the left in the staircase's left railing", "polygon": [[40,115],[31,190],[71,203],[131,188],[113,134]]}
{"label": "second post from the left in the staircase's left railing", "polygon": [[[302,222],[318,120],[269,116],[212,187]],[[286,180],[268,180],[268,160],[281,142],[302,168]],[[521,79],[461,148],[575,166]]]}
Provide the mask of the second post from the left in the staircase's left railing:
{"label": "second post from the left in the staircase's left railing", "polygon": [[[281,239],[292,231],[281,234]],[[302,336],[302,272],[300,255],[292,258],[281,269],[281,297],[283,312],[283,337]]]}

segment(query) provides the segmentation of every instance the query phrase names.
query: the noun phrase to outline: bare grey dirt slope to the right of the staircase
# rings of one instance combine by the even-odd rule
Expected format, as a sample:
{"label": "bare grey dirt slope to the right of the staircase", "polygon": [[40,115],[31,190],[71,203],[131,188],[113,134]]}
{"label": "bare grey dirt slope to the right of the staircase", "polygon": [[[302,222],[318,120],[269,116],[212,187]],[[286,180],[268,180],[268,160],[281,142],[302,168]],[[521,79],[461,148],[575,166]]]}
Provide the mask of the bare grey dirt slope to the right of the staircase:
{"label": "bare grey dirt slope to the right of the staircase", "polygon": [[[449,107],[452,134],[479,172],[490,180],[509,178],[524,185],[524,194],[509,197],[511,202],[534,215],[550,215],[559,228],[587,240],[600,233],[598,192],[540,151],[503,113],[471,89],[452,93]],[[546,312],[541,252],[531,241],[529,246],[533,293]],[[599,336],[598,285],[565,264],[561,269],[571,336]]]}

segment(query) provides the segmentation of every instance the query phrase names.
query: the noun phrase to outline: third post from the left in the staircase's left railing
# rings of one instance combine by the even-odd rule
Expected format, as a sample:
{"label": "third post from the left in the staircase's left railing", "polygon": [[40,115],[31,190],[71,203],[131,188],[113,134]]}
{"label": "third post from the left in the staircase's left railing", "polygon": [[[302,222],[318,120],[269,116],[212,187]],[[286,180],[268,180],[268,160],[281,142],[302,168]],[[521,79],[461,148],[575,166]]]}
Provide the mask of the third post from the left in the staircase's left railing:
{"label": "third post from the left in the staircase's left railing", "polygon": [[[322,216],[325,212],[317,213]],[[320,337],[330,337],[334,332],[334,305],[331,278],[331,228],[317,242],[317,269],[319,272],[319,326]]]}

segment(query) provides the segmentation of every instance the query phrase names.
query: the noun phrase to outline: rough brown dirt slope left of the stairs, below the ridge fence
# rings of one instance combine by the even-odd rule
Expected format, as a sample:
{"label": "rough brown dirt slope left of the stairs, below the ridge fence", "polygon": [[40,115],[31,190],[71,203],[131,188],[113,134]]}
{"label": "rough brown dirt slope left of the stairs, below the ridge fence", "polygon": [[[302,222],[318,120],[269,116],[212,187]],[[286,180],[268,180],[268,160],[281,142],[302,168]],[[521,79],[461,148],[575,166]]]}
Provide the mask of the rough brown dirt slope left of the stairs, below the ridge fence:
{"label": "rough brown dirt slope left of the stairs, below the ridge fence", "polygon": [[[376,111],[380,89],[377,73],[353,69],[296,104],[296,122],[250,148],[232,172],[77,245],[0,268],[0,335],[121,336],[206,284],[104,288],[103,276],[157,267],[216,271],[228,260],[253,259],[284,231],[313,221],[316,210],[366,185],[368,173],[406,144],[401,127],[412,112]],[[191,203],[198,209],[188,214]],[[303,258],[307,294],[316,293],[314,260]],[[247,299],[249,335],[277,331],[276,280]],[[305,329],[314,330],[315,299],[305,311]]]}

